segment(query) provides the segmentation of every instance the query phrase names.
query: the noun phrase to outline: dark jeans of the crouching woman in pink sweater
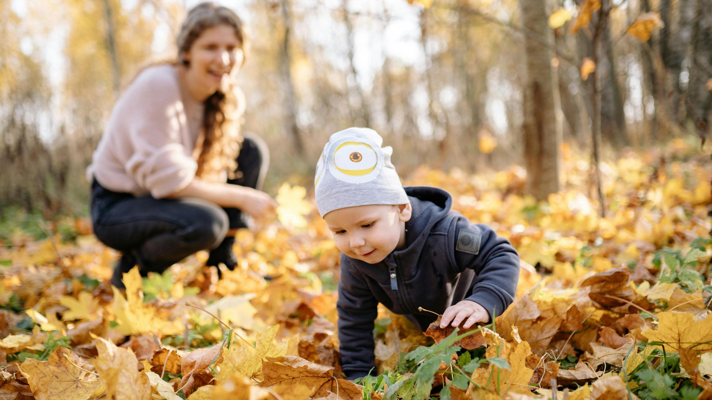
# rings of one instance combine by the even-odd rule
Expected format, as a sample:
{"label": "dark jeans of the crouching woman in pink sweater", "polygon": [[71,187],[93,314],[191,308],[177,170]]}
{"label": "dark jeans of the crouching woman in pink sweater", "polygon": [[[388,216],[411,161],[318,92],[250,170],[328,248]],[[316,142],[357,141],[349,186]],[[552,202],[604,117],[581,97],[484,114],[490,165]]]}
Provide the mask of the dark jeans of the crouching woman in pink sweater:
{"label": "dark jeans of the crouching woman in pink sweater", "polygon": [[[245,137],[237,157],[237,177],[229,184],[261,189],[269,152],[257,137]],[[94,233],[106,246],[135,256],[142,275],[162,272],[200,250],[216,248],[229,229],[244,228],[239,209],[197,198],[155,199],[110,191],[92,184]]]}

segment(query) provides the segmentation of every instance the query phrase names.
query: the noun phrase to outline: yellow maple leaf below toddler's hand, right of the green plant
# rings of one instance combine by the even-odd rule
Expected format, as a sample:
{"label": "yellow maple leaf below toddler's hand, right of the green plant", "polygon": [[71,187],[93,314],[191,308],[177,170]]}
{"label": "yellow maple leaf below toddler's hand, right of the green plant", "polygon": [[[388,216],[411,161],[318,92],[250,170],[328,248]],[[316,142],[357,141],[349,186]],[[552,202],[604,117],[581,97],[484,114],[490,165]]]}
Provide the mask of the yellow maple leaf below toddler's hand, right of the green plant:
{"label": "yellow maple leaf below toddler's hand, right of the green plant", "polygon": [[[483,335],[487,338],[485,332]],[[485,354],[488,358],[506,359],[510,368],[502,369],[494,364],[490,364],[488,368],[478,368],[472,374],[472,381],[491,391],[499,389],[501,393],[507,391],[529,393],[527,384],[534,374],[534,370],[526,367],[526,358],[531,354],[528,342],[504,342],[500,346],[499,353],[496,345],[490,345]],[[492,379],[489,379],[490,374],[492,374]]]}

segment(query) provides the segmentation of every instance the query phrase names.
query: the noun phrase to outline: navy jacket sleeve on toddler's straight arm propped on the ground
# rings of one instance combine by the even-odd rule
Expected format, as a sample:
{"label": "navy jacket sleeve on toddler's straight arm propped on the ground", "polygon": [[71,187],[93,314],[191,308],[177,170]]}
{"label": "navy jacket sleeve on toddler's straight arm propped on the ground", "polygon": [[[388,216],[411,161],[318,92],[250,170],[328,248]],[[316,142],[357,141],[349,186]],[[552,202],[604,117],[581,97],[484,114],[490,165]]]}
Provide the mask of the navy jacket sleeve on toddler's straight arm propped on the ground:
{"label": "navy jacket sleeve on toddler's straight arm propped on the ground", "polygon": [[364,278],[357,270],[351,270],[345,256],[342,256],[336,309],[339,315],[339,351],[347,379],[365,377],[376,366],[373,328],[378,315],[377,306],[378,301]]}

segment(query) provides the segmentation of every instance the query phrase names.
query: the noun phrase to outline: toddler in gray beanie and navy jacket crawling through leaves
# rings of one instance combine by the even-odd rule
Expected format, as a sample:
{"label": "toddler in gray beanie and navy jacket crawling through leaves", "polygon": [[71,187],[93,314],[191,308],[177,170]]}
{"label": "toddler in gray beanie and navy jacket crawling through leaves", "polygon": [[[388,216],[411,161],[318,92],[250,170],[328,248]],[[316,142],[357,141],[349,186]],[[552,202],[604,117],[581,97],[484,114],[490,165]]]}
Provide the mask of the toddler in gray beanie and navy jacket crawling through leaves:
{"label": "toddler in gray beanie and navy jacket crawling through leaves", "polygon": [[338,331],[347,379],[375,367],[377,305],[407,315],[422,330],[488,322],[511,304],[519,258],[489,226],[452,211],[451,196],[426,186],[404,188],[392,147],[367,128],[331,135],[317,164],[319,214],[341,251]]}

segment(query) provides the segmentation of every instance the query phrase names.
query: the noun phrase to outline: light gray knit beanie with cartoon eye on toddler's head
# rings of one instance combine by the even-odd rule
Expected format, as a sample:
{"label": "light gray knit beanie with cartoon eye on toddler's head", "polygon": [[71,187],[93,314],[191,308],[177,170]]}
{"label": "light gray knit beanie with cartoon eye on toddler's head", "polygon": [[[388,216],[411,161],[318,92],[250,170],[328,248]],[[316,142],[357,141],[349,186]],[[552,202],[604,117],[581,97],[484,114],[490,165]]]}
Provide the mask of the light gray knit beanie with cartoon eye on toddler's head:
{"label": "light gray knit beanie with cartoon eye on toddler's head", "polygon": [[369,128],[348,128],[331,135],[314,176],[316,207],[331,211],[371,204],[407,204],[407,194],[391,163],[393,148]]}

